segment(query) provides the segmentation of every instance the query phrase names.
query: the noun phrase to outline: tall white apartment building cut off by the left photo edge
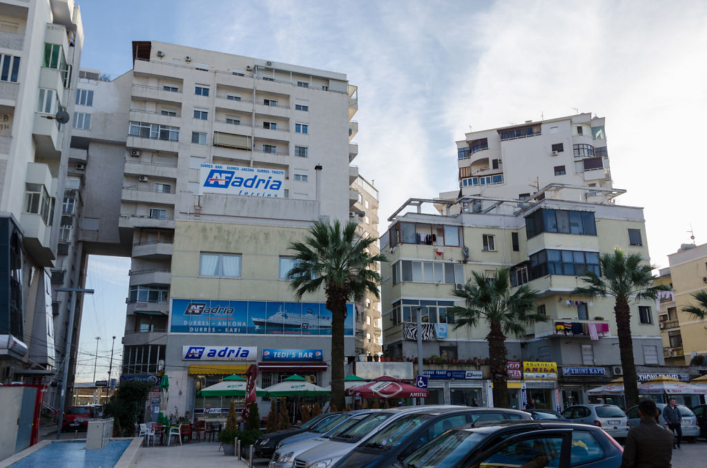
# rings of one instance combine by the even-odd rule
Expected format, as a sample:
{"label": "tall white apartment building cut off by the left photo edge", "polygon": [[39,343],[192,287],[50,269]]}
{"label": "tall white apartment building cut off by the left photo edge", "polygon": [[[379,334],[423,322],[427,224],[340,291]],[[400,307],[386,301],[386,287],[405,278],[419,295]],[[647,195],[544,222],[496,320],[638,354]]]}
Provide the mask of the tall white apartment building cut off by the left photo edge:
{"label": "tall white apartment building cut off by the left photo edge", "polygon": [[81,186],[66,168],[82,45],[73,1],[0,2],[0,378],[54,384],[45,395],[54,406],[67,355],[74,367],[80,320],[69,324],[66,293],[52,291],[81,281],[80,262],[62,278],[55,271],[66,240],[62,202]]}

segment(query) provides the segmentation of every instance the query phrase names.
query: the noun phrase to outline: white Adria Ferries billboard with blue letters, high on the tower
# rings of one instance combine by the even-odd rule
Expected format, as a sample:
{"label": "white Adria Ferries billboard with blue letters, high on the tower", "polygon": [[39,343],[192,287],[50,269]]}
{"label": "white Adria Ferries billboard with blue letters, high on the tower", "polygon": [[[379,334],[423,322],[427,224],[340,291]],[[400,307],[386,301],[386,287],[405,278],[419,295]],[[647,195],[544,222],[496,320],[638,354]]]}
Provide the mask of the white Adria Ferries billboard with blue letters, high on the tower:
{"label": "white Adria Ferries billboard with blue letters, high on the tower", "polygon": [[284,179],[284,170],[202,164],[199,172],[199,194],[283,198]]}

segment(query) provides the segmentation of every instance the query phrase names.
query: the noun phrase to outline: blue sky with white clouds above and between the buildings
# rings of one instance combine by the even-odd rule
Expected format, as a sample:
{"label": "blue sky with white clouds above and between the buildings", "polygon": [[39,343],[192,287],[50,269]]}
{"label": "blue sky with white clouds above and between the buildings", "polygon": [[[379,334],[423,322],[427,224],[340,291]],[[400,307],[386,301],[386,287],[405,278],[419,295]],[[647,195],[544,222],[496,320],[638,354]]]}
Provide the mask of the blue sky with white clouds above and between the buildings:
{"label": "blue sky with white clouds above and between the buildings", "polygon": [[[614,187],[628,190],[617,203],[645,207],[651,262],[667,267],[667,255],[691,242],[689,230],[698,245],[707,242],[699,208],[707,160],[698,145],[707,2],[77,3],[82,66],[114,77],[132,67],[132,40],[345,73],[358,86],[354,164],[380,190],[381,231],[409,197],[458,187],[455,141],[465,132],[578,111],[607,119]],[[98,324],[124,321],[128,268],[89,262],[88,279],[110,291],[97,307],[117,314]],[[119,278],[125,286],[114,293]],[[123,330],[91,328],[88,307],[80,347],[93,355],[93,337]]]}

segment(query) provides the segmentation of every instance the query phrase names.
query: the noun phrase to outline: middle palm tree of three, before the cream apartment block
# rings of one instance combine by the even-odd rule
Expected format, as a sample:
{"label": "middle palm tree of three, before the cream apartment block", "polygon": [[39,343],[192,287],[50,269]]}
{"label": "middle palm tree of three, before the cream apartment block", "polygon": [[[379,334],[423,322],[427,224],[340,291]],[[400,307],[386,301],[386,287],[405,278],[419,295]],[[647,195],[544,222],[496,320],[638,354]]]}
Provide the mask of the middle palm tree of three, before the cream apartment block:
{"label": "middle palm tree of three, before the cream apartment block", "polygon": [[452,289],[452,296],[464,299],[463,306],[448,309],[455,316],[455,329],[477,327],[480,322],[489,325],[489,365],[493,382],[493,406],[508,408],[508,384],[506,382],[506,337],[525,334],[525,327],[534,322],[544,322],[545,315],[529,313],[536,309],[538,292],[524,284],[510,293],[507,269],[496,270],[493,279],[473,272],[461,290]]}

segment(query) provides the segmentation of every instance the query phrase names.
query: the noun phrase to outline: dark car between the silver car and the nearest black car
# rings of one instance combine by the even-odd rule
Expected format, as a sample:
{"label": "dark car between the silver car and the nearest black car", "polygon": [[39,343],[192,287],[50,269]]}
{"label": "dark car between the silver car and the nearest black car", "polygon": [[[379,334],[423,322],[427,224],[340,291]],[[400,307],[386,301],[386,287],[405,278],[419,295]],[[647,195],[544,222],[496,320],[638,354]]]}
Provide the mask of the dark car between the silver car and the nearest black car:
{"label": "dark car between the silver car and the nearest black car", "polygon": [[451,428],[506,419],[530,420],[530,414],[498,408],[438,408],[409,414],[363,440],[334,467],[390,467]]}

